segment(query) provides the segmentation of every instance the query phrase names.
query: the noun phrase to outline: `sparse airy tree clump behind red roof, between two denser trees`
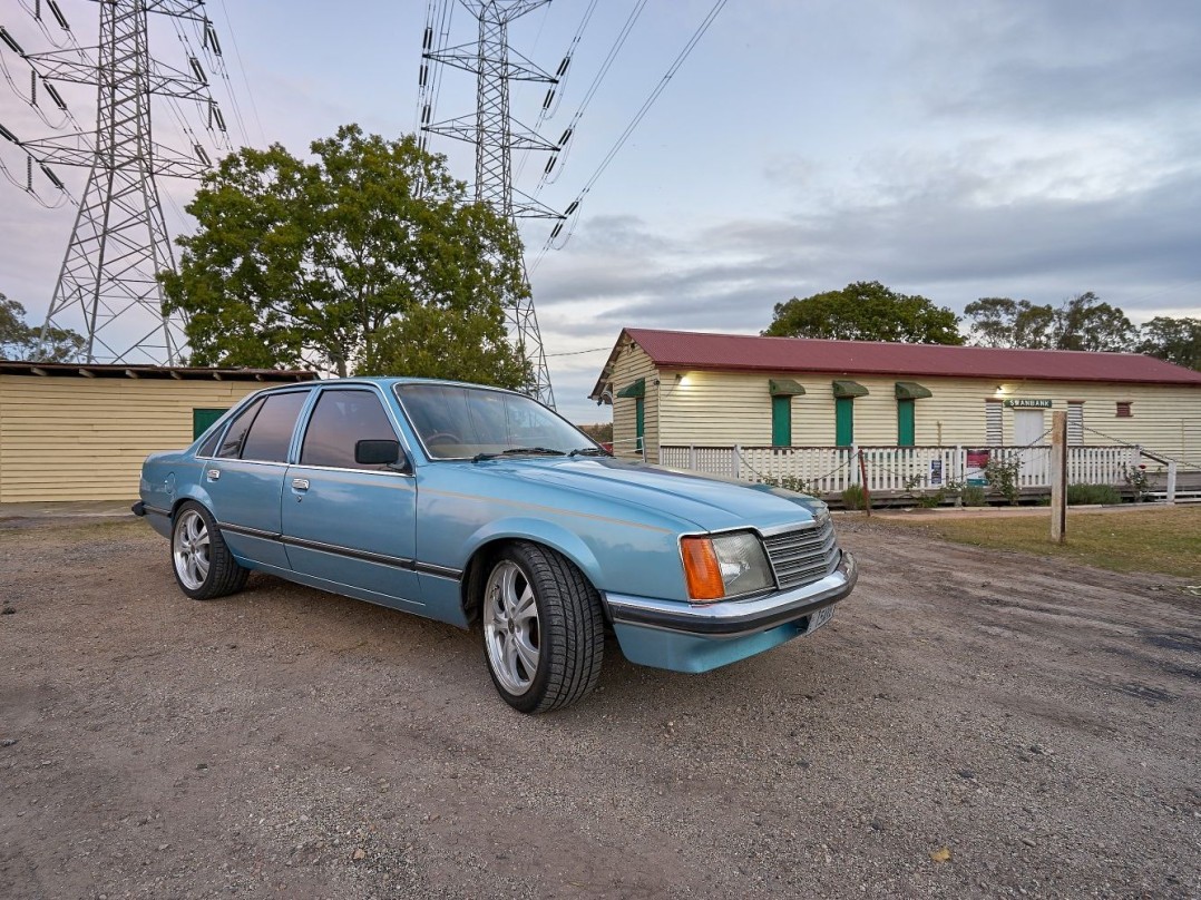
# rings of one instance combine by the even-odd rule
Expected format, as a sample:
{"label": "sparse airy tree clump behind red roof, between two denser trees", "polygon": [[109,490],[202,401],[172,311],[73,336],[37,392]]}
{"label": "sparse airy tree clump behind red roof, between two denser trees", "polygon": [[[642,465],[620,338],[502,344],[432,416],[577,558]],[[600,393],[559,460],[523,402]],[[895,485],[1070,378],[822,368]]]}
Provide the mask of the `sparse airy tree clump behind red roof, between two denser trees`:
{"label": "sparse airy tree clump behind red roof, between two denser trees", "polygon": [[1008,296],[984,296],[963,307],[972,320],[972,342],[980,347],[1030,350],[1129,350],[1135,328],[1116,306],[1092,290],[1059,308]]}

